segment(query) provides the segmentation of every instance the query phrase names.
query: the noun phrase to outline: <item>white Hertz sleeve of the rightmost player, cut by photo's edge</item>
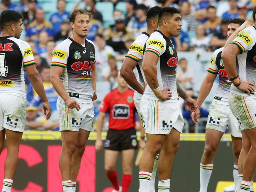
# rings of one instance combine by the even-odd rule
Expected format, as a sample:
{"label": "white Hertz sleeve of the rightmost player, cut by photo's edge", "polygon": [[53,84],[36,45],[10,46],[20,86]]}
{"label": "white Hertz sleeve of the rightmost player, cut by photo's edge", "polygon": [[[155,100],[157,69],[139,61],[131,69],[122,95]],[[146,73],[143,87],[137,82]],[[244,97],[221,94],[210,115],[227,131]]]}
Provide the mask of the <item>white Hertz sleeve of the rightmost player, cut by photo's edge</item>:
{"label": "white Hertz sleeve of the rightmost player, cut by photo's edge", "polygon": [[255,33],[252,33],[252,30],[255,29],[253,27],[245,28],[239,34],[237,34],[235,39],[233,39],[231,42],[239,47],[241,53],[251,50],[255,44],[256,37]]}

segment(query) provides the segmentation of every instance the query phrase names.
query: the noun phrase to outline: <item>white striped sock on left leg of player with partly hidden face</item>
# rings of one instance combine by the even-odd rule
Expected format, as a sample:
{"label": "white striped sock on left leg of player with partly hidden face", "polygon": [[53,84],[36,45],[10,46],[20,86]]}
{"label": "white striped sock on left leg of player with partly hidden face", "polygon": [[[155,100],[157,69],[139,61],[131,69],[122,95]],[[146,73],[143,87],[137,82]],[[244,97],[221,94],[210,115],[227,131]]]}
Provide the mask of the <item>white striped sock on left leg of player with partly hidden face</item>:
{"label": "white striped sock on left leg of player with partly hidden face", "polygon": [[207,192],[207,187],[213,171],[213,164],[200,163],[200,192]]}

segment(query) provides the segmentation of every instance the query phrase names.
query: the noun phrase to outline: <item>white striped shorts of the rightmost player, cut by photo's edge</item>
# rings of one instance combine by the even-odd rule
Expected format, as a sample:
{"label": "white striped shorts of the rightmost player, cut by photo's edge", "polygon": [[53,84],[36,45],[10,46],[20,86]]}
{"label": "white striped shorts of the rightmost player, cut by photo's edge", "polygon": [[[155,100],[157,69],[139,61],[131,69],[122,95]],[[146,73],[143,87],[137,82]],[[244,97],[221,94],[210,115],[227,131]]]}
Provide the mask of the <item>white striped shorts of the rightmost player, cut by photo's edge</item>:
{"label": "white striped shorts of the rightmost player, cut by photo's edge", "polygon": [[230,94],[228,103],[241,129],[256,127],[256,97]]}

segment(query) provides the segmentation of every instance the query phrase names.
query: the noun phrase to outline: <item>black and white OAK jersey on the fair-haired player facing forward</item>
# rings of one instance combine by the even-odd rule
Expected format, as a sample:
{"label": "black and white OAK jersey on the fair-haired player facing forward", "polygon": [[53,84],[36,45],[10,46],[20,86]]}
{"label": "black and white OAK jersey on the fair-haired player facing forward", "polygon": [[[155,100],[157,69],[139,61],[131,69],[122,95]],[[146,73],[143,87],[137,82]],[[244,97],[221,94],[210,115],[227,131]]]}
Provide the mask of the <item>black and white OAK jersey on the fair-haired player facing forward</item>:
{"label": "black and white OAK jersey on the fair-haired player facing forward", "polygon": [[82,46],[70,37],[53,50],[51,66],[63,67],[60,76],[65,91],[79,103],[92,102],[92,67],[95,63],[95,46],[86,39]]}

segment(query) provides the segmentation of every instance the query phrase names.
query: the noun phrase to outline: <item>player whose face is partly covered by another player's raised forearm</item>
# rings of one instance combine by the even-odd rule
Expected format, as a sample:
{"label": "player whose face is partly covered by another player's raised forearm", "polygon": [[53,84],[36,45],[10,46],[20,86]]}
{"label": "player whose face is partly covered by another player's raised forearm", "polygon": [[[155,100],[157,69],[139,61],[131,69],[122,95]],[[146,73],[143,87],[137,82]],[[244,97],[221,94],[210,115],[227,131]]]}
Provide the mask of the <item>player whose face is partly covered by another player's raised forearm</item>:
{"label": "player whose face is partly covered by another player's raised forearm", "polygon": [[[247,27],[247,23],[243,24],[244,22],[244,19],[230,19],[228,22],[228,38],[230,38],[233,33],[237,34],[239,31]],[[235,187],[238,186],[237,165],[239,153],[242,148],[242,134],[239,123],[232,114],[228,105],[231,81],[228,78],[228,75],[224,69],[223,60],[221,58],[223,48],[224,47],[219,48],[215,50],[215,52],[213,52],[209,68],[207,70],[209,73],[207,73],[207,76],[201,85],[197,99],[197,104],[200,107],[209,92],[211,91],[215,78],[217,77],[217,75],[219,75],[219,85],[216,90],[206,124],[206,142],[200,162],[200,192],[207,191],[209,179],[213,170],[213,158],[217,151],[220,139],[222,135],[226,132],[227,128],[230,129],[233,143],[233,155],[235,160],[233,176],[235,181]],[[200,111],[198,110],[198,112],[192,113],[191,116],[192,120],[197,123],[196,118],[200,116]]]}

